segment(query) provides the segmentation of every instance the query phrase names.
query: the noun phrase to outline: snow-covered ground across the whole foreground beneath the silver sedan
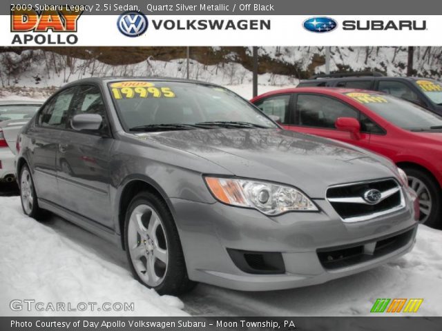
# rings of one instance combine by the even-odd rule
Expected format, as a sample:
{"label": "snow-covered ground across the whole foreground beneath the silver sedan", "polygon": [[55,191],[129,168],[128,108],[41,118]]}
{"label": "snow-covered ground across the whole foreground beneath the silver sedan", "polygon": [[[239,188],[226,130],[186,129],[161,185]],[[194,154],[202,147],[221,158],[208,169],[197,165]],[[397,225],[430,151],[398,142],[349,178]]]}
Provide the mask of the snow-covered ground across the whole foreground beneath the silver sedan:
{"label": "snow-covered ground across the whole foreground beneath the silver sedan", "polygon": [[[41,302],[134,302],[138,316],[363,316],[377,298],[423,298],[418,315],[442,314],[442,231],[421,226],[405,257],[323,285],[273,292],[238,292],[200,284],[180,299],[160,297],[133,279],[122,251],[93,234],[52,217],[23,215],[19,197],[0,197],[0,315],[12,299]],[[104,315],[115,312],[60,312]]]}

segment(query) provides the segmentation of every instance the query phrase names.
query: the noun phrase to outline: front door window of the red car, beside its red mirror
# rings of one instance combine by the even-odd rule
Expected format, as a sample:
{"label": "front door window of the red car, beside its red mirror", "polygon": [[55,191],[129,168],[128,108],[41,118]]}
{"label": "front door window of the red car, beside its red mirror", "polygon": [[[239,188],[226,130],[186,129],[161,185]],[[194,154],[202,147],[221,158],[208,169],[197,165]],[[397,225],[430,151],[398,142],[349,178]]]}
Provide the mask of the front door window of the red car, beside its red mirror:
{"label": "front door window of the red car, beside its red mirror", "polygon": [[336,129],[334,122],[338,117],[353,117],[359,114],[340,101],[315,94],[298,94],[296,101],[300,126]]}

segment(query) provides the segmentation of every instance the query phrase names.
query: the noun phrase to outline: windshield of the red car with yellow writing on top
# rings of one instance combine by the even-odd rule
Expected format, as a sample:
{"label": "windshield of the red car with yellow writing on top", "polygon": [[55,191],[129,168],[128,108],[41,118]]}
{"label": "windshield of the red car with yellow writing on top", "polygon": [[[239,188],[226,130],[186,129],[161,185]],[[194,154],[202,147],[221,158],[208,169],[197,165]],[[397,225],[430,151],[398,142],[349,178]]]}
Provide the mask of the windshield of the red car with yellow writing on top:
{"label": "windshield of the red car with yellow writing on top", "polygon": [[436,131],[442,129],[442,117],[414,103],[390,94],[346,93],[365,107],[395,126],[410,131]]}

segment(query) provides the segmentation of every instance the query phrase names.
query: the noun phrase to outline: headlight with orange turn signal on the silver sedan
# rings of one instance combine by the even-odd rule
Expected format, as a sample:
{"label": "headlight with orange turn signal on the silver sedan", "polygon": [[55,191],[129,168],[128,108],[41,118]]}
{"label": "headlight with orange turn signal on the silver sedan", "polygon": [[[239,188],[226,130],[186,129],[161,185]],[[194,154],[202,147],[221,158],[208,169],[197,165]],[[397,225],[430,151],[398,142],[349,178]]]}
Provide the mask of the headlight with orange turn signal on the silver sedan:
{"label": "headlight with orange turn signal on the silver sedan", "polygon": [[318,211],[305,194],[289,186],[250,179],[204,179],[213,196],[228,205],[255,208],[272,216],[290,211]]}

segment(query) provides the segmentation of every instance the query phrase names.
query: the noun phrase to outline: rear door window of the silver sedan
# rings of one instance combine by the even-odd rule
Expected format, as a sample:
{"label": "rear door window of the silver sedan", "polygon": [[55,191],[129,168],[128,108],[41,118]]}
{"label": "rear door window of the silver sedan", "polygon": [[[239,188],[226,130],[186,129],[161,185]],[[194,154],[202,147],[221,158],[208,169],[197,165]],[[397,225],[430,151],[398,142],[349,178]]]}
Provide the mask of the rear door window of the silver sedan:
{"label": "rear door window of the silver sedan", "polygon": [[68,110],[76,88],[68,88],[53,97],[41,111],[39,125],[49,128],[66,128]]}

